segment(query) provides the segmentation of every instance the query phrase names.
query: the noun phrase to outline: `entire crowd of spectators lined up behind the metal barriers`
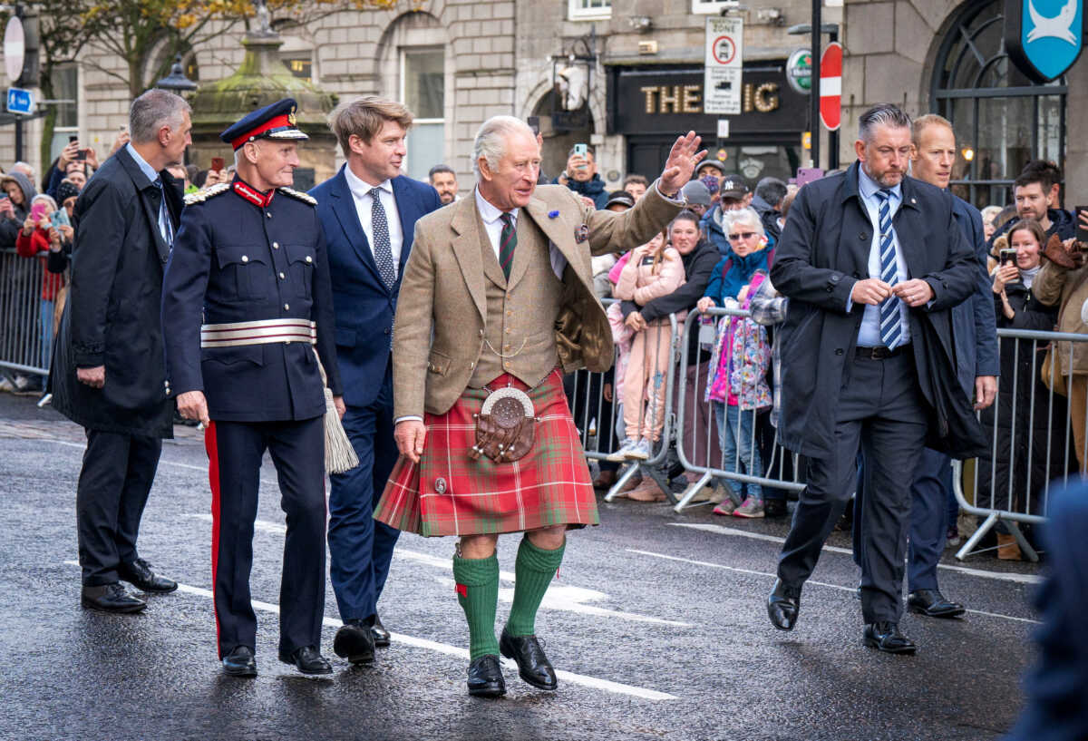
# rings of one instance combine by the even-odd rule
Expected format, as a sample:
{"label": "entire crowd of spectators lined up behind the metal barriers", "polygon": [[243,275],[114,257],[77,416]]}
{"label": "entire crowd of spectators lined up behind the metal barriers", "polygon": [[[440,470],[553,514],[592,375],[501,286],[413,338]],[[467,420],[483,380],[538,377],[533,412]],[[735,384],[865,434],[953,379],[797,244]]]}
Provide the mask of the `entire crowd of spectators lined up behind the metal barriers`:
{"label": "entire crowd of spectators lined up behind the metal barriers", "polygon": [[[126,143],[127,134],[121,132],[104,157]],[[542,182],[570,188],[588,207],[633,208],[652,183],[631,173],[621,189],[609,193],[596,156],[592,147],[576,146],[564,171],[554,180],[542,176]],[[222,160],[213,165],[176,165],[171,172],[191,193],[233,178],[233,165]],[[27,274],[30,260],[41,268],[34,272],[33,285],[9,269],[0,286],[0,298],[26,313],[21,321],[9,313],[5,353],[33,347],[24,353],[27,365],[49,366],[66,293],[72,210],[98,166],[95,148],[73,137],[40,180],[23,162],[0,175],[0,249],[26,258]],[[433,166],[428,181],[444,205],[461,197],[457,174],[446,164]],[[673,399],[673,408],[683,406],[684,411],[683,458],[695,467],[766,477],[775,457],[778,402],[774,325],[786,311],[768,274],[796,192],[796,185],[777,177],[764,177],[753,187],[725,162],[708,159],[682,189],[687,210],[662,234],[646,245],[632,245],[627,255],[592,258],[594,288],[611,302],[618,362],[604,375],[571,376],[568,393],[576,423],[588,437],[594,433],[595,449],[608,454],[599,461],[596,485],[613,485],[627,461],[655,457],[666,421],[669,316],[683,322],[692,309],[701,313],[701,328],[690,333],[689,363],[676,369],[675,384],[688,395]],[[1060,169],[1052,162],[1028,162],[1011,196],[1007,206],[987,206],[980,212],[997,326],[1085,332],[1088,264],[1075,240],[1078,219],[1061,207]],[[1079,222],[1088,229],[1088,213]],[[739,312],[703,316],[712,308]],[[1074,466],[1085,467],[1088,345],[1058,343],[1047,354],[1048,347],[1044,342],[1001,342],[999,400],[982,412],[992,454],[978,460],[974,485],[968,484],[981,505],[1041,511],[1047,482]],[[1039,370],[1044,355],[1051,360],[1046,363],[1050,379]],[[0,388],[40,392],[39,380],[4,371]],[[665,457],[667,473],[682,471],[678,458],[675,449]],[[697,478],[687,474],[689,483]],[[628,486],[632,498],[664,498],[654,481],[636,477]],[[752,481],[718,480],[708,498],[721,515],[778,517],[787,511],[782,491]],[[1002,531],[998,538],[1001,553],[1015,557],[1011,536]]]}

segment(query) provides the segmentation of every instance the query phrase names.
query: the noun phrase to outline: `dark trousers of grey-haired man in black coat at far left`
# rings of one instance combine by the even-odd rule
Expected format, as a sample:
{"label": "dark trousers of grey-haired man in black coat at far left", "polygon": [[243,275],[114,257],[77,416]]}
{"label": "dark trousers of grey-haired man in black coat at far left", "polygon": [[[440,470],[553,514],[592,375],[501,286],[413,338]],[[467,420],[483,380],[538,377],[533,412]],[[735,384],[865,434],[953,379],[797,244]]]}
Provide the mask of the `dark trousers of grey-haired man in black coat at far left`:
{"label": "dark trousers of grey-haired man in black coat at far left", "polygon": [[75,512],[79,566],[86,586],[118,581],[129,564],[147,495],[154,481],[162,441],[143,435],[87,430],[87,450],[76,484]]}

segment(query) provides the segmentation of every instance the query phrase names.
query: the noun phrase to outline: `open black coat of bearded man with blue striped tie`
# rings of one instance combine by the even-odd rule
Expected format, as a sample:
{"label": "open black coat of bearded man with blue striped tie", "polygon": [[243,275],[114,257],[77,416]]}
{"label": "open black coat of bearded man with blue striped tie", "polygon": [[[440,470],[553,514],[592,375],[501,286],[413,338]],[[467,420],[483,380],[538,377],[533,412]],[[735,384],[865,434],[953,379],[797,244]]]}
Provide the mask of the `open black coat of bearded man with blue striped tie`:
{"label": "open black coat of bearded man with blue striped tie", "polygon": [[[873,244],[857,169],[855,162],[845,173],[801,188],[770,270],[775,287],[790,297],[781,335],[782,443],[807,456],[834,450],[839,394],[850,382],[848,359],[854,356],[865,309],[854,304],[846,311],[854,284],[868,277]],[[985,440],[955,380],[949,310],[975,292],[978,264],[955,223],[952,195],[912,177],[903,181],[902,195],[893,224],[907,272],[934,289],[928,306],[910,312],[918,381],[935,412],[927,445],[962,453],[948,441],[950,429],[977,431],[968,435],[973,445]],[[935,368],[941,372],[934,373]]]}

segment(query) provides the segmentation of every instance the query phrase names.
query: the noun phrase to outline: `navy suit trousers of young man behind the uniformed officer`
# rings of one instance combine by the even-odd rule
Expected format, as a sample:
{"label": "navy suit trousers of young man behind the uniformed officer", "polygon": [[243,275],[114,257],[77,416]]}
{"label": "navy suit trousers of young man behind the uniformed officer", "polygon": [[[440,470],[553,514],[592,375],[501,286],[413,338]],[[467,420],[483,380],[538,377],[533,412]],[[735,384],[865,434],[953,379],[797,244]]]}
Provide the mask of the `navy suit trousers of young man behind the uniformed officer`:
{"label": "navy suit trousers of young man behind the uniformed officer", "polygon": [[349,406],[344,415],[344,430],[359,456],[359,465],[330,477],[329,573],[343,620],[364,619],[378,613],[378,598],[400,535],[396,528],[374,520],[374,507],[398,455],[393,440],[391,366],[386,367],[374,403]]}

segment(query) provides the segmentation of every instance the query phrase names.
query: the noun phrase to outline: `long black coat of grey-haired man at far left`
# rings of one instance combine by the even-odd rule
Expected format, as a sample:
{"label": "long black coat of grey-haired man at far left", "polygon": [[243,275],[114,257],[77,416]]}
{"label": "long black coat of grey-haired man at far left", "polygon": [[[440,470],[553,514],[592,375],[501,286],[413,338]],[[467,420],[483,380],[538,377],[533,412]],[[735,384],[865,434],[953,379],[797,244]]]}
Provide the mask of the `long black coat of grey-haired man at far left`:
{"label": "long black coat of grey-haired man at far left", "polygon": [[[182,188],[165,170],[176,232]],[[170,248],[159,232],[160,192],[122,148],[90,178],[75,205],[72,282],[53,347],[53,407],[85,428],[173,436],[159,302]],[[106,386],[76,380],[106,366]]]}

